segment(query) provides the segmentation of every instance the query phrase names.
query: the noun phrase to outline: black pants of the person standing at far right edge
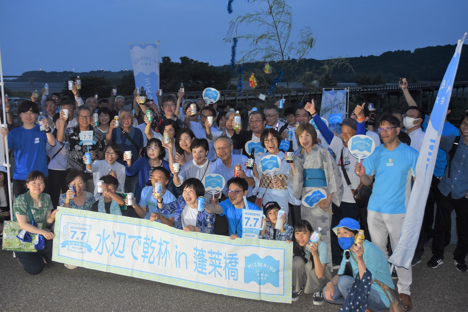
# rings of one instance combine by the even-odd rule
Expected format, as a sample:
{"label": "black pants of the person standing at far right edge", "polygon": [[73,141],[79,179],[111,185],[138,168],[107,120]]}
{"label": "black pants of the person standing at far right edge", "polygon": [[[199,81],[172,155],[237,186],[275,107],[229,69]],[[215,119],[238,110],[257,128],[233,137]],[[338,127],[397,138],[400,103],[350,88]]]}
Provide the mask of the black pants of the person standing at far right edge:
{"label": "black pants of the person standing at far right edge", "polygon": [[450,228],[450,215],[455,210],[457,216],[457,247],[453,252],[453,259],[457,261],[465,260],[468,252],[468,199],[465,196],[460,199],[453,199],[452,193],[444,196],[436,189],[436,221],[434,224],[434,235],[432,237],[432,254],[440,259],[444,259],[444,247],[447,227]]}

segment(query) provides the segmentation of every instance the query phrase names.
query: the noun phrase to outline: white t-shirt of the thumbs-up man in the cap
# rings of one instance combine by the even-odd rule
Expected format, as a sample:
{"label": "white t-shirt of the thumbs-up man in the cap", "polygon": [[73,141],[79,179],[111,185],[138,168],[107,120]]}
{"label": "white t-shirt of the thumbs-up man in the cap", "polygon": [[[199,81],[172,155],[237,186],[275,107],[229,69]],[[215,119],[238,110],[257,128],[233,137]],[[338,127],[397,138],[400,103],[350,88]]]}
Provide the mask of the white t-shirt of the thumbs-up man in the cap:
{"label": "white t-shirt of the thumbs-up man in the cap", "polygon": [[348,174],[348,178],[350,179],[351,186],[353,189],[357,189],[359,182],[360,182],[360,178],[355,172],[356,163],[358,162],[358,159],[350,154],[348,148],[344,147],[343,141],[341,140],[341,138],[338,138],[337,136],[333,136],[333,139],[331,140],[330,148],[336,155],[336,163],[338,164],[338,168],[339,168],[338,170],[340,170],[341,179],[343,180],[343,188],[344,188],[343,202],[355,203],[356,201],[354,200],[354,197],[352,195],[351,188],[348,186],[348,183],[346,183],[346,179],[344,179],[344,174],[341,170],[341,161],[340,161],[341,150],[343,149],[344,169],[346,170],[346,173]]}

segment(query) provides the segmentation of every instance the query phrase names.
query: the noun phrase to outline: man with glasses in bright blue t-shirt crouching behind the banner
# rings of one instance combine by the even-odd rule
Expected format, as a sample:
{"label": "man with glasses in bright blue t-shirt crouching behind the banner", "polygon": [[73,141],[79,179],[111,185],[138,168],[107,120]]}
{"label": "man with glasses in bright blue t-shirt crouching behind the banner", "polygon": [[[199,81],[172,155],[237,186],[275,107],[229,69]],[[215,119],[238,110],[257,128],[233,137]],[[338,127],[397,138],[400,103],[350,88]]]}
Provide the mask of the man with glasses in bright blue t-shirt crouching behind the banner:
{"label": "man with glasses in bright blue t-shirt crouching behind the banner", "polygon": [[[227,197],[219,204],[205,203],[205,210],[226,216],[229,225],[230,239],[242,237],[242,209],[245,207],[244,196],[247,196],[249,184],[242,178],[231,178],[227,181]],[[247,202],[247,209],[260,210],[255,203]]]}

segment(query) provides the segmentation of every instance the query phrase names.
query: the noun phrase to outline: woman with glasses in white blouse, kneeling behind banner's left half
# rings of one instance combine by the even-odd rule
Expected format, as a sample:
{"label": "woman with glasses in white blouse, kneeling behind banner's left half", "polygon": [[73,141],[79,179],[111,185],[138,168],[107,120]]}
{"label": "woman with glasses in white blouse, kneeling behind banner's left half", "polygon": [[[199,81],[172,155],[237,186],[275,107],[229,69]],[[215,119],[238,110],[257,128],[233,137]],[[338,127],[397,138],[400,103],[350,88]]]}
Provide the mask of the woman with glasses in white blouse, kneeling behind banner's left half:
{"label": "woman with glasses in white blouse, kneeling behind banner's left half", "polygon": [[[124,191],[125,184],[125,166],[118,163],[117,160],[123,157],[122,149],[117,143],[111,142],[104,148],[104,159],[95,160],[93,164],[86,165],[86,172],[93,173],[94,180],[94,197],[99,200],[101,194],[97,192],[97,181],[102,180],[101,177],[105,175],[112,175],[119,182],[118,191]],[[83,161],[86,158],[83,156]]]}

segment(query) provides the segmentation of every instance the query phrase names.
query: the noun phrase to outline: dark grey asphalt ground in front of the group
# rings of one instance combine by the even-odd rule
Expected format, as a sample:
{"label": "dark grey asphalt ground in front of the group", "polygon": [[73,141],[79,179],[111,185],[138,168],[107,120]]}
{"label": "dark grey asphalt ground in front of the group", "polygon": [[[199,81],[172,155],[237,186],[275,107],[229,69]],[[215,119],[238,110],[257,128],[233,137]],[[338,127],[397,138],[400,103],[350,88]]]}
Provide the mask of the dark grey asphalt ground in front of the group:
{"label": "dark grey asphalt ground in front of the group", "polygon": [[[423,261],[413,267],[411,297],[414,312],[466,312],[468,272],[452,260],[455,248],[446,248],[445,262],[429,268],[430,243]],[[26,273],[10,252],[0,252],[0,311],[317,311],[336,312],[338,305],[313,305],[312,295],[301,294],[292,304],[279,304],[212,294],[179,286],[120,276],[87,268],[70,270],[52,262],[36,276]],[[336,272],[336,271],[335,271]]]}

